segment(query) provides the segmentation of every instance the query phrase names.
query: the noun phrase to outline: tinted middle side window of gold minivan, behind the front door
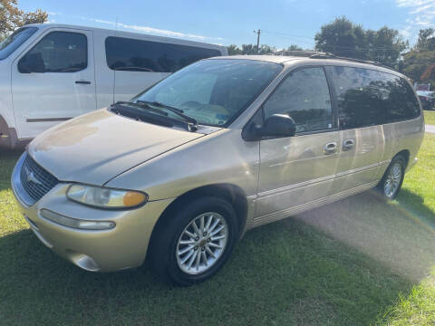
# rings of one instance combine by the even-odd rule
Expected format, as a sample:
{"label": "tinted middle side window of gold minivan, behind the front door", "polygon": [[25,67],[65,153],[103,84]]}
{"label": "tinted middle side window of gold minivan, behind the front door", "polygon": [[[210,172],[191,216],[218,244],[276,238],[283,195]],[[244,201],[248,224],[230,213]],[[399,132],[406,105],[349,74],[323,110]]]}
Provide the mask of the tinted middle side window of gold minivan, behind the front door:
{"label": "tinted middle side window of gold minivan, behind the front door", "polygon": [[385,123],[391,87],[382,72],[351,67],[327,69],[333,76],[341,129]]}

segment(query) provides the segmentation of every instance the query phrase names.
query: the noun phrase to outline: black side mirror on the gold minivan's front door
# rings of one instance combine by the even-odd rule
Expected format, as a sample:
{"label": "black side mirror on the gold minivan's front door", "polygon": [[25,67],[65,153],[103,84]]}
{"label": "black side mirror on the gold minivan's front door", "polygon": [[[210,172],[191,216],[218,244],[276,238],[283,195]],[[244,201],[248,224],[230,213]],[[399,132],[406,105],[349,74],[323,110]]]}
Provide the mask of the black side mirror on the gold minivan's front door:
{"label": "black side mirror on the gold minivan's front door", "polygon": [[255,141],[263,137],[291,137],[295,136],[295,132],[295,120],[285,114],[273,114],[267,118],[264,126],[254,121],[247,124],[242,131],[242,138]]}

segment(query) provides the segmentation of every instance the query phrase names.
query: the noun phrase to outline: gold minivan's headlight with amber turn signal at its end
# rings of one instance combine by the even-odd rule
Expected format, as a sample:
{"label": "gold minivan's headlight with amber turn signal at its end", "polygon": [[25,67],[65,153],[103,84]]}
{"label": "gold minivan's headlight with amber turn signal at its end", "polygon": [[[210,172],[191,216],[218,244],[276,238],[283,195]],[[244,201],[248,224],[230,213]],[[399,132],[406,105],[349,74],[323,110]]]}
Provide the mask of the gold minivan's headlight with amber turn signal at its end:
{"label": "gold minivan's headlight with amber turn signal at its end", "polygon": [[148,197],[140,191],[74,184],[66,190],[66,197],[77,203],[102,208],[131,208],[143,205]]}

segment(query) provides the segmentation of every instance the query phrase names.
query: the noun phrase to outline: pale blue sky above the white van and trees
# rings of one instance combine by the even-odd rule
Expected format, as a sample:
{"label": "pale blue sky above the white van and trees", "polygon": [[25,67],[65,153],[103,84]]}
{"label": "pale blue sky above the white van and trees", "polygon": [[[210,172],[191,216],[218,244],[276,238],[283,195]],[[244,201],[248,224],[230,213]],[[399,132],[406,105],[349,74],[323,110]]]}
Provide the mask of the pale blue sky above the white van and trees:
{"label": "pale blue sky above the white van and trees", "polygon": [[384,25],[400,31],[411,45],[420,28],[435,27],[435,0],[19,0],[25,11],[41,8],[49,23],[185,38],[228,45],[260,43],[277,49],[314,47],[323,24],[345,15],[363,28]]}

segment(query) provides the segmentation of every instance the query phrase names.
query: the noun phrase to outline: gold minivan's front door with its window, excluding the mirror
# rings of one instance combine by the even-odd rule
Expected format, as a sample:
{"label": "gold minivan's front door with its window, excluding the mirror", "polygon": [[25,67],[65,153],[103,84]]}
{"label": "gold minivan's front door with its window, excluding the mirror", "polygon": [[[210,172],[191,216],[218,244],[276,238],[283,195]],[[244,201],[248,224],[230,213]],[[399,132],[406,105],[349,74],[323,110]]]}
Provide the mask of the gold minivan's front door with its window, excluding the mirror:
{"label": "gold minivan's front door with its window, excluding the mirror", "polygon": [[340,150],[322,67],[291,72],[263,110],[265,120],[272,114],[288,114],[295,120],[296,134],[260,141],[256,225],[295,214],[327,197]]}

